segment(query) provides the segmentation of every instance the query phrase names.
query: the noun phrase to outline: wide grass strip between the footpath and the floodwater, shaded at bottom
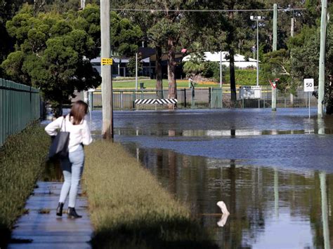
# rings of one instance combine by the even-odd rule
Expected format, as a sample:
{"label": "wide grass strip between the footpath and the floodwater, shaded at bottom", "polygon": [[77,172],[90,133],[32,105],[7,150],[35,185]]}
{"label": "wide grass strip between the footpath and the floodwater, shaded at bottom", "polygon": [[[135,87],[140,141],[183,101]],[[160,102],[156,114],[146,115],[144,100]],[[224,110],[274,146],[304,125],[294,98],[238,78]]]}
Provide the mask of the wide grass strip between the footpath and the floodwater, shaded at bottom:
{"label": "wide grass strip between the footpath and the floodwater, shaded at bottom", "polygon": [[217,248],[188,207],[121,145],[98,141],[85,151],[93,248]]}

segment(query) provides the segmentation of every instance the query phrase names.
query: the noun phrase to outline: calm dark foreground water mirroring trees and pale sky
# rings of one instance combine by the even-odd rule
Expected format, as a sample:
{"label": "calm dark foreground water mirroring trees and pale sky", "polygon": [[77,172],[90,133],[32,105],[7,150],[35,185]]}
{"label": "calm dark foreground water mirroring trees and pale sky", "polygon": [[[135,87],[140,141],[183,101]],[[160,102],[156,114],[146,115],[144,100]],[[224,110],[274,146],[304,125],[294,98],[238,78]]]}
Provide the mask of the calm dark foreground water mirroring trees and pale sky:
{"label": "calm dark foreground water mirroring trees and pale sky", "polygon": [[[136,144],[125,146],[136,153]],[[330,246],[332,217],[322,208],[320,198],[327,201],[327,196],[320,194],[326,191],[318,172],[244,166],[240,160],[166,149],[141,148],[139,158],[171,194],[188,203],[221,248],[320,248],[324,241]],[[229,217],[218,215],[220,200]]]}

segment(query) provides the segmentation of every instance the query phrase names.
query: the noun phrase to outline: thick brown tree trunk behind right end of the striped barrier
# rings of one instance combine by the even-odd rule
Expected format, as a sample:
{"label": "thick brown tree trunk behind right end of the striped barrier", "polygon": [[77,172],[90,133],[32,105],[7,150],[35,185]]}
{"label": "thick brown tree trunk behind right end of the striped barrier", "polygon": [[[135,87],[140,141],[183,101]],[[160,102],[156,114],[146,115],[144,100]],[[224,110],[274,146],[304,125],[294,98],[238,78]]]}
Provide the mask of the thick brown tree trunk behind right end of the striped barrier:
{"label": "thick brown tree trunk behind right end of the striped barrier", "polygon": [[[176,46],[174,46],[174,41],[168,39],[168,82],[169,82],[169,99],[177,98],[177,84],[176,84]],[[174,109],[176,105],[170,104],[169,109]]]}

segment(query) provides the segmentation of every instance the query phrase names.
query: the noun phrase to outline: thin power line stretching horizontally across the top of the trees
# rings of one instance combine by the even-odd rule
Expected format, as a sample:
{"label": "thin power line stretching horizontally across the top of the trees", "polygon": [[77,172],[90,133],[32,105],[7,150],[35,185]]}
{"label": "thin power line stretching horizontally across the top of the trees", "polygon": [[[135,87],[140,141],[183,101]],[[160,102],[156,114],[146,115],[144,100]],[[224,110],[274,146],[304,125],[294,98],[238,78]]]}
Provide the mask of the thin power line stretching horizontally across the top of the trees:
{"label": "thin power line stretching horizontally across the top of the trees", "polygon": [[[278,11],[304,11],[306,8],[279,8]],[[141,11],[141,12],[165,12],[158,8],[111,8],[111,11]],[[273,8],[252,9],[252,10],[167,10],[168,12],[254,12],[254,11],[273,11]]]}

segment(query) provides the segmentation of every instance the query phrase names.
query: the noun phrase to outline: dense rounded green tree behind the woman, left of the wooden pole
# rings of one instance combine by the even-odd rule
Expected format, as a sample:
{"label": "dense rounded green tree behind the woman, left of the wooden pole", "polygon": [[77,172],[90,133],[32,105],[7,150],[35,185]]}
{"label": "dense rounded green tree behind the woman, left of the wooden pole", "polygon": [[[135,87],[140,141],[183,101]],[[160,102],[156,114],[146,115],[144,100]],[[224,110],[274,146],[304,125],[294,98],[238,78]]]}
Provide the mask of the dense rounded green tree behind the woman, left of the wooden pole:
{"label": "dense rounded green tree behind the woman, left of the wooden pole", "polygon": [[90,64],[96,57],[95,43],[84,26],[74,27],[56,13],[34,17],[32,7],[26,6],[6,28],[16,40],[16,51],[1,67],[20,82],[40,88],[46,100],[60,109],[74,90],[100,85],[100,76]]}

